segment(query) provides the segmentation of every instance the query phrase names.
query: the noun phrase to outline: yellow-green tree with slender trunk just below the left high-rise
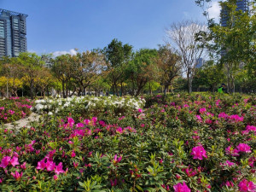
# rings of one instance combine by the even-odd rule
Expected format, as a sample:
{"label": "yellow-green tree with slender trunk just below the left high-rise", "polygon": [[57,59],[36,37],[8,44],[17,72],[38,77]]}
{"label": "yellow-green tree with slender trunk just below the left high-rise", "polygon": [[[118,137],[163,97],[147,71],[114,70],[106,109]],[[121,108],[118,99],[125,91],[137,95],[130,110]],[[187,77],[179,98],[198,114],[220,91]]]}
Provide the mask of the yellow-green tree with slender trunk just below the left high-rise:
{"label": "yellow-green tree with slender trunk just below the left high-rise", "polygon": [[31,91],[31,99],[33,99],[35,79],[37,79],[41,73],[44,61],[35,53],[20,53],[18,56],[18,63],[21,65],[22,72],[27,77],[26,79]]}

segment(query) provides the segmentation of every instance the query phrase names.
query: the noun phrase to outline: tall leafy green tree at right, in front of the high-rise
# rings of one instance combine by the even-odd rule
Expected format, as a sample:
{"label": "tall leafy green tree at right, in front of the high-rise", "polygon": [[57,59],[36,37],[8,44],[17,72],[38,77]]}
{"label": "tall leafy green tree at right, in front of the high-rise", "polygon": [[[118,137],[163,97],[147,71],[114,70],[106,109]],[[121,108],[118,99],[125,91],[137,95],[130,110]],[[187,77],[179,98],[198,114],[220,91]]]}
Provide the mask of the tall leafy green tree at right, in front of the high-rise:
{"label": "tall leafy green tree at right, in front of the high-rise", "polygon": [[[211,0],[198,0],[195,3],[201,8],[209,8]],[[251,74],[253,65],[256,61],[256,17],[255,1],[252,1],[252,9],[248,12],[237,10],[237,0],[227,0],[219,2],[225,11],[221,17],[227,20],[226,26],[214,23],[209,17],[209,12],[204,11],[207,16],[209,34],[208,38],[212,44],[211,47],[217,53],[217,58],[223,64],[228,81],[228,90],[235,91],[235,81],[241,71],[241,64],[249,69],[248,75]],[[220,57],[219,57],[220,55]]]}

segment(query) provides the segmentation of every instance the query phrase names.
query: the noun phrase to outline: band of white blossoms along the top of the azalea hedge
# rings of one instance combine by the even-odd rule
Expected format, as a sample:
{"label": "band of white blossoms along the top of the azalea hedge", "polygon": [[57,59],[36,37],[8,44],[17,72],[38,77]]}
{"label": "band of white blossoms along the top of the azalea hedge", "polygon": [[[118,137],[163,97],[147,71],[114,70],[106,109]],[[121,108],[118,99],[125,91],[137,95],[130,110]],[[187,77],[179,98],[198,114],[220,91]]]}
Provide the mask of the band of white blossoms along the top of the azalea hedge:
{"label": "band of white blossoms along the top of the azalea hedge", "polygon": [[36,106],[32,108],[35,113],[58,113],[62,109],[84,108],[90,110],[93,108],[125,108],[138,109],[145,105],[144,99],[118,96],[74,96],[68,98],[49,98],[37,100]]}

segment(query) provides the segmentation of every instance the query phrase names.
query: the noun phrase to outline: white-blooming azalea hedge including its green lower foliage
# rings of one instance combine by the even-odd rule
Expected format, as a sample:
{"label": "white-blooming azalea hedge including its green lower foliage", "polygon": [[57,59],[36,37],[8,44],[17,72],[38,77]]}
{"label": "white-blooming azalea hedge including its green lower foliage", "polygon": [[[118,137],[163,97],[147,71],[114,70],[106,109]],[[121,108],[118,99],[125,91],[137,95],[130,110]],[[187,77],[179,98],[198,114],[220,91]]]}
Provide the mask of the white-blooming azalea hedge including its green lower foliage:
{"label": "white-blooming azalea hedge including its green lower foliage", "polygon": [[144,99],[132,98],[130,96],[74,96],[68,98],[48,98],[37,100],[35,113],[48,113],[49,115],[57,114],[66,117],[72,114],[74,119],[80,117],[98,116],[102,113],[124,114],[134,109],[143,108]]}

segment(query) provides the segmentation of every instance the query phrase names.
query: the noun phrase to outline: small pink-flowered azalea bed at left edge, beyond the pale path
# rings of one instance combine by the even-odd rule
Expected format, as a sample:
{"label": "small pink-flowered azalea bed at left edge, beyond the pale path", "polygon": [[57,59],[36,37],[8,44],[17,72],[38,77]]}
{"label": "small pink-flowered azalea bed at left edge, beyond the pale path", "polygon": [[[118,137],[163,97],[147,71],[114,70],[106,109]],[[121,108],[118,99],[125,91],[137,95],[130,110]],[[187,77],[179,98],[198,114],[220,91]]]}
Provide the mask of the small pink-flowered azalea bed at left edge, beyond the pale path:
{"label": "small pink-flowered azalea bed at left edge, beyond the pale path", "polygon": [[31,100],[20,97],[0,100],[0,122],[9,123],[25,118],[32,113],[32,105]]}

